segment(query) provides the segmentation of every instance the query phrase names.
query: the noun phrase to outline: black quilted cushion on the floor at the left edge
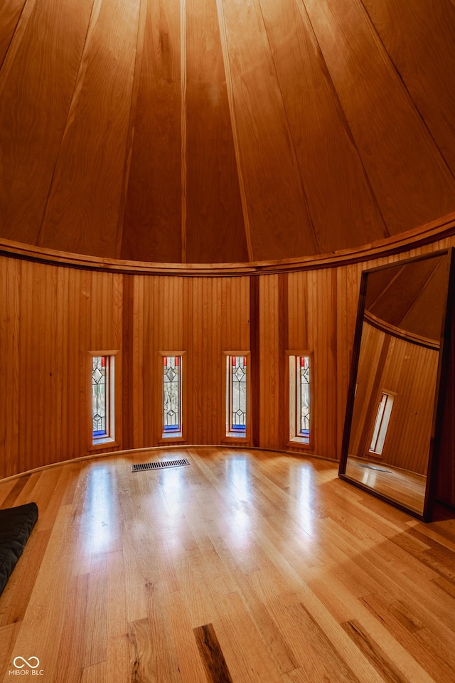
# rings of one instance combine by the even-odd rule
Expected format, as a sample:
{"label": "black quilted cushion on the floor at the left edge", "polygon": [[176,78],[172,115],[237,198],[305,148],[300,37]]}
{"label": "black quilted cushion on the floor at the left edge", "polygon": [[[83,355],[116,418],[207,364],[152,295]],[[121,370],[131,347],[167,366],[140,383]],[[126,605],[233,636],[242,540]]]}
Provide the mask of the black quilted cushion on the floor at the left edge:
{"label": "black quilted cushion on the floor at the left edge", "polygon": [[36,503],[0,510],[0,595],[38,519]]}

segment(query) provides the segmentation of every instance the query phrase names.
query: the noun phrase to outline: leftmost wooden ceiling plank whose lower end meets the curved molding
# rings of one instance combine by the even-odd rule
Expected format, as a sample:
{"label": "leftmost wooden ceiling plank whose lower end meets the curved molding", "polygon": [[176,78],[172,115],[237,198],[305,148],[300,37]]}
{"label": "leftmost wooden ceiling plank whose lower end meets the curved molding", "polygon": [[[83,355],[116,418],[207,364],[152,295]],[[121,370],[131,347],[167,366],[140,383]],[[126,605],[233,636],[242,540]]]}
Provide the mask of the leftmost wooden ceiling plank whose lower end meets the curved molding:
{"label": "leftmost wooden ceiling plank whose lower end meets the curved molding", "polygon": [[0,225],[36,244],[93,0],[28,0],[0,72]]}

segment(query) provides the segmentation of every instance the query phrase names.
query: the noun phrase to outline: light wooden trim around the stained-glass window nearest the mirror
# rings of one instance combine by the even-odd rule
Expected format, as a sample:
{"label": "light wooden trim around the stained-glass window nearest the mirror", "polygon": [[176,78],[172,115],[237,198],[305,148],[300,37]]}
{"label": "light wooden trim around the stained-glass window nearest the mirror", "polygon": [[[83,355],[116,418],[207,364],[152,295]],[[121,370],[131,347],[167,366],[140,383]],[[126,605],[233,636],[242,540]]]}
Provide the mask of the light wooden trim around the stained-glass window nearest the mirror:
{"label": "light wooden trim around the stained-glass window nearest the mirror", "polygon": [[[288,415],[289,415],[289,441],[288,446],[294,448],[314,448],[314,351],[299,350],[299,351],[286,351],[287,356],[287,396],[288,396]],[[297,383],[297,358],[301,356],[306,356],[309,358],[309,369],[310,369],[310,428],[308,439],[304,436],[299,435],[299,430],[297,427],[298,420],[298,393],[299,386]]]}

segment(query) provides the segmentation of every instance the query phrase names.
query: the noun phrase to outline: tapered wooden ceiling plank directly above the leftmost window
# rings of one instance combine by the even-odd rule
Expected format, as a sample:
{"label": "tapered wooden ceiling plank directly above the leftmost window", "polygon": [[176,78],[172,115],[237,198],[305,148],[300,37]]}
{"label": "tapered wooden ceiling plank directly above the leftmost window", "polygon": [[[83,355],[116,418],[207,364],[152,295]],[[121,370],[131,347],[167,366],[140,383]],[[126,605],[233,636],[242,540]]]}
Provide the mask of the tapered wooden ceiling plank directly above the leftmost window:
{"label": "tapered wooden ceiling plank directly above the leftmost window", "polygon": [[115,255],[140,0],[95,0],[39,244]]}

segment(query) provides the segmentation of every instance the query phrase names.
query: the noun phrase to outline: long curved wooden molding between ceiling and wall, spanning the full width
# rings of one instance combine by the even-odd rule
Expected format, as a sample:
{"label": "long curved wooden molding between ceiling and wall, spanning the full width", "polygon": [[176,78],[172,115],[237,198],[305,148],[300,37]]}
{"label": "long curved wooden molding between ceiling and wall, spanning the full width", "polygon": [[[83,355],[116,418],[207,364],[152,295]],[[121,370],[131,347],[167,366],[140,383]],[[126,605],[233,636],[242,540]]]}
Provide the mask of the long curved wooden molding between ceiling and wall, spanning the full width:
{"label": "long curved wooden molding between ceiling and wall, spanning the full width", "polygon": [[147,263],[143,261],[98,258],[66,253],[0,238],[0,255],[50,263],[67,268],[123,272],[130,275],[181,275],[183,277],[220,277],[222,275],[261,275],[294,270],[336,268],[374,258],[382,258],[412,248],[422,247],[455,234],[455,212],[406,233],[379,240],[362,247],[301,258],[257,261],[252,263]]}

